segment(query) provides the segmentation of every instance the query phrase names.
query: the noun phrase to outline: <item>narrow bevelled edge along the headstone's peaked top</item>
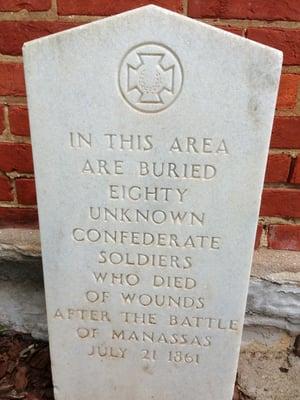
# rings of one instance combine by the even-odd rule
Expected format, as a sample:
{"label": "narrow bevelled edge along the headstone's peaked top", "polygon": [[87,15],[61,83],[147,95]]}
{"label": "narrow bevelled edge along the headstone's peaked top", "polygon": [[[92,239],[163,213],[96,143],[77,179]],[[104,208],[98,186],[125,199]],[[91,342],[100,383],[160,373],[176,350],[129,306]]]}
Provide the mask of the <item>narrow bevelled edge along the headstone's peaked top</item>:
{"label": "narrow bevelled edge along the headstone's peaked top", "polygon": [[40,45],[43,45],[44,43],[46,44],[47,42],[51,42],[52,40],[55,40],[56,38],[60,38],[60,39],[66,39],[69,35],[72,35],[74,33],[79,33],[82,31],[86,31],[88,29],[90,29],[90,27],[95,26],[95,25],[104,25],[104,24],[111,24],[111,23],[115,23],[117,22],[119,19],[122,19],[125,16],[130,16],[130,17],[137,17],[139,16],[139,14],[141,15],[157,15],[157,17],[162,17],[162,16],[172,16],[175,19],[177,19],[177,21],[182,21],[185,22],[187,24],[193,25],[194,29],[207,29],[210,30],[212,32],[217,32],[219,35],[224,36],[228,36],[228,39],[235,40],[235,41],[240,41],[243,42],[246,46],[248,47],[257,47],[257,48],[261,48],[262,50],[266,51],[266,52],[270,52],[270,54],[273,54],[275,57],[278,57],[278,62],[282,64],[282,60],[283,60],[283,52],[274,48],[274,47],[270,47],[267,45],[264,45],[262,43],[258,43],[255,42],[254,40],[245,38],[243,36],[239,36],[236,35],[234,33],[231,32],[227,32],[224,31],[223,29],[217,28],[215,26],[209,25],[207,23],[201,22],[199,20],[190,18],[188,16],[182,15],[182,14],[178,14],[174,11],[168,10],[166,8],[163,7],[159,7],[156,6],[154,4],[150,4],[150,5],[146,5],[146,6],[142,6],[142,7],[138,7],[129,11],[125,11],[123,13],[117,14],[117,15],[113,15],[110,17],[106,17],[106,18],[101,18],[97,21],[92,21],[89,22],[87,24],[84,25],[80,25],[74,28],[70,28],[67,30],[64,30],[62,32],[57,32],[48,36],[44,36],[42,38],[38,38],[38,39],[34,39],[28,42],[25,42],[23,44],[23,55],[25,56],[25,53],[27,53],[27,51],[30,51],[31,48],[35,48],[38,47]]}

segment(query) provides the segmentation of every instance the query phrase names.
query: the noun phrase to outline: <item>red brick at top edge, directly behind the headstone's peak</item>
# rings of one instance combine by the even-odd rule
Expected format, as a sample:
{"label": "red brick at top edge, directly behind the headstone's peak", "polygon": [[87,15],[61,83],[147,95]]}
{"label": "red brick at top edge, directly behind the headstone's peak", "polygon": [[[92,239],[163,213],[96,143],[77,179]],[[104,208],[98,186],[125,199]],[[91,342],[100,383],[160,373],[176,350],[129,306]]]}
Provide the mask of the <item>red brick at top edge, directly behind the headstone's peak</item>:
{"label": "red brick at top edge, directly behind the headstone's peak", "polygon": [[59,15],[113,15],[136,7],[155,4],[172,11],[183,12],[182,0],[57,0]]}

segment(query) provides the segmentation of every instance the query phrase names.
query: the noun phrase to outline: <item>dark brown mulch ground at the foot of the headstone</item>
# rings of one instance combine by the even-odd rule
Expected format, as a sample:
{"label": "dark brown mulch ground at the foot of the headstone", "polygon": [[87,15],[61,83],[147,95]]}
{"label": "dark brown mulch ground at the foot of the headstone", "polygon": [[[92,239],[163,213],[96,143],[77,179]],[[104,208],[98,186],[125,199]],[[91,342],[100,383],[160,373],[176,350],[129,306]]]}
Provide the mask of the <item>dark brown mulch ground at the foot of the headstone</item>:
{"label": "dark brown mulch ground at the foot of the headstone", "polygon": [[[0,400],[54,400],[48,343],[1,330]],[[235,388],[233,400],[248,400]]]}

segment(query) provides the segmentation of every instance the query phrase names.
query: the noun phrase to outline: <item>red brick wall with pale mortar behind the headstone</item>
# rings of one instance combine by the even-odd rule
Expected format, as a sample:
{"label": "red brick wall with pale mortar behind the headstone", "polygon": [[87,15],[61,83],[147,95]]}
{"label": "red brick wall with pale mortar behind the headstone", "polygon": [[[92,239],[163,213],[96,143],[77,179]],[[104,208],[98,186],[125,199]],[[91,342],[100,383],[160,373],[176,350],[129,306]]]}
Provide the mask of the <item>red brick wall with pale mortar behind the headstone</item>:
{"label": "red brick wall with pale mortar behind the headstone", "polygon": [[256,246],[300,250],[299,0],[0,0],[0,227],[37,226],[22,44],[150,3],[284,52]]}

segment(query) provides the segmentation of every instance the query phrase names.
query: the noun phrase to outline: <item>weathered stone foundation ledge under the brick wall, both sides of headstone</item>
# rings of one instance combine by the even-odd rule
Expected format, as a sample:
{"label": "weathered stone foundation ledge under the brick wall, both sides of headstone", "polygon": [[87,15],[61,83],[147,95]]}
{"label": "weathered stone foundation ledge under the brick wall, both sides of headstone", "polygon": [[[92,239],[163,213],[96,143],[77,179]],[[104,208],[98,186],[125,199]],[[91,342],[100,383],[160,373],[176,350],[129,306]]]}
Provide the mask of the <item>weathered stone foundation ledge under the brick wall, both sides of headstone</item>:
{"label": "weathered stone foundation ledge under the brick wall, both sides of headstone", "polygon": [[[255,252],[245,326],[300,334],[300,252]],[[0,323],[47,338],[39,231],[0,231]]]}

